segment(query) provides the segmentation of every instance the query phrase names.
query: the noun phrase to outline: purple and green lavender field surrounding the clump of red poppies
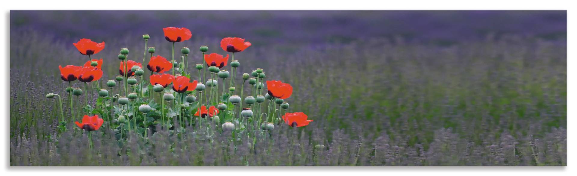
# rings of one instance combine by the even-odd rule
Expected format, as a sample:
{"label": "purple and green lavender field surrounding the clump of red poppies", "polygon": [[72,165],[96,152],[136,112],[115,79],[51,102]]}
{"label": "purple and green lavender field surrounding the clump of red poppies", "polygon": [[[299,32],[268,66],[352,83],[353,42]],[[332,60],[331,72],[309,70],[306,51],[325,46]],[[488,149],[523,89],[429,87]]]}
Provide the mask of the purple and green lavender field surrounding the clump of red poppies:
{"label": "purple and green lavender field surrounding the clump of red poppies", "polygon": [[[155,117],[122,136],[125,127],[109,128],[122,110],[114,111],[90,140],[60,120],[58,98],[46,95],[62,96],[65,118],[77,113],[58,70],[87,62],[73,43],[106,41],[92,58],[103,59],[99,86],[106,87],[118,75],[119,49],[142,61],[143,35],[155,55],[170,58],[167,26],[192,32],[176,43],[175,57],[190,48],[194,80],[201,80],[201,45],[226,55],[223,37],[250,41],[234,56],[237,85],[262,68],[267,81],[293,86],[285,111],[314,121],[275,123],[241,133],[237,143],[194,116],[180,134]],[[10,166],[567,166],[566,36],[566,11],[13,10]],[[253,95],[246,87],[243,94]],[[116,88],[110,94],[122,95]],[[100,106],[98,93],[88,87],[78,100]]]}

